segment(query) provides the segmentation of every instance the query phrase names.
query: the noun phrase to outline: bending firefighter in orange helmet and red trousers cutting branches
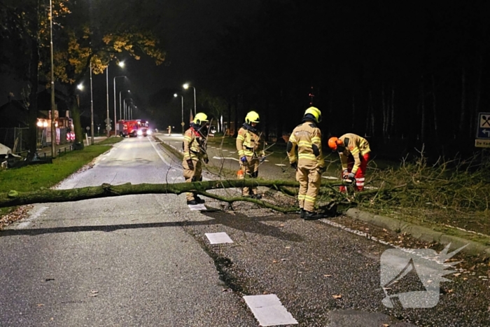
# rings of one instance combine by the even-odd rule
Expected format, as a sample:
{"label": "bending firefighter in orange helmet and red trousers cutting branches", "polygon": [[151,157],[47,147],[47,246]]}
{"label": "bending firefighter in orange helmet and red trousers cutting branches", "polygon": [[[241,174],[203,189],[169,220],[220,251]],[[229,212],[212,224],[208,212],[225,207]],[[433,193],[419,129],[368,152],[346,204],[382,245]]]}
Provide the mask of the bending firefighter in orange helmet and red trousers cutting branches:
{"label": "bending firefighter in orange helmet and red trousers cutting branches", "polygon": [[[328,146],[337,151],[342,163],[342,179],[356,183],[356,190],[364,190],[364,181],[371,149],[369,142],[363,137],[347,133],[342,137],[330,137]],[[341,192],[346,192],[345,186],[340,186]]]}

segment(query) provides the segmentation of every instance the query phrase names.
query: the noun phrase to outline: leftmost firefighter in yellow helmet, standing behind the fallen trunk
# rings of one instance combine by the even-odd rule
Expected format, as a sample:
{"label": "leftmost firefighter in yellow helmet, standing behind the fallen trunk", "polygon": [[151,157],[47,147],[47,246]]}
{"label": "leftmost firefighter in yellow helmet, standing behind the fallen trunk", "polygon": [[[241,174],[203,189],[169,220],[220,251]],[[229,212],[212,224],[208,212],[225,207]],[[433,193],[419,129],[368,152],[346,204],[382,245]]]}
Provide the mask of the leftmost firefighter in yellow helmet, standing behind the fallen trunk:
{"label": "leftmost firefighter in yellow helmet, standing behind the fallen trunk", "polygon": [[[208,117],[205,113],[197,113],[183,139],[183,175],[187,183],[202,181],[202,162],[208,163],[207,126]],[[187,204],[204,203],[196,193],[186,193]]]}

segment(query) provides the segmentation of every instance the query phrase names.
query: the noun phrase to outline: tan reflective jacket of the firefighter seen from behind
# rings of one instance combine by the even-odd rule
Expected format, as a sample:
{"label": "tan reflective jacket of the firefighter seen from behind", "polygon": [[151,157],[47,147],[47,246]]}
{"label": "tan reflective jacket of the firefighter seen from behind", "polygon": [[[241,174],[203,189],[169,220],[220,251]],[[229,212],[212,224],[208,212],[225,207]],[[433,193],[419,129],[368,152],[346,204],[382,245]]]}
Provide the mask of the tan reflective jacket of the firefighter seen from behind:
{"label": "tan reflective jacket of the firefighter seen from behind", "polygon": [[287,153],[289,162],[297,161],[298,166],[311,165],[316,162],[316,167],[325,167],[321,151],[321,130],[309,121],[297,125],[289,137]]}

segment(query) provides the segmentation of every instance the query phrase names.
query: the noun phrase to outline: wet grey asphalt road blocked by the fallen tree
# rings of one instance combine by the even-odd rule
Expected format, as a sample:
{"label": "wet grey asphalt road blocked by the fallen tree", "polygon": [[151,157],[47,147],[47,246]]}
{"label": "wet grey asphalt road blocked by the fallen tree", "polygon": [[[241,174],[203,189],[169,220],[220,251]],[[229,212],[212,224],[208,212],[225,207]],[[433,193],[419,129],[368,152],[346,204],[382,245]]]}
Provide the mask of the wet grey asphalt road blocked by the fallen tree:
{"label": "wet grey asphalt road blocked by the fallen tree", "polygon": [[[179,160],[137,138],[58,187],[181,181]],[[342,217],[234,209],[191,211],[184,195],[36,204],[0,232],[0,326],[259,326],[244,295],[272,294],[299,326],[489,325],[488,276],[461,270],[440,283],[435,307],[387,308],[380,261],[393,246]],[[214,232],[233,243],[210,244]],[[420,288],[416,274],[399,284],[390,289]]]}

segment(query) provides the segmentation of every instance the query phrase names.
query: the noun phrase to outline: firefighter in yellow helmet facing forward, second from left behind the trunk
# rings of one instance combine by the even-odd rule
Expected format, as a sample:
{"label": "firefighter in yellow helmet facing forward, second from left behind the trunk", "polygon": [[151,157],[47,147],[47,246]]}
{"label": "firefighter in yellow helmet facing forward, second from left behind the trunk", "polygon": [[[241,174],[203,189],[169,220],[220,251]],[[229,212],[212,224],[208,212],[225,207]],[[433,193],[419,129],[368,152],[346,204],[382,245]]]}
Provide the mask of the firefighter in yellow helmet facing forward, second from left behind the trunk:
{"label": "firefighter in yellow helmet facing forward, second from left behind the trunk", "polygon": [[[239,179],[251,177],[253,179],[258,176],[258,166],[260,164],[259,153],[260,135],[255,128],[259,123],[260,118],[258,113],[250,111],[246,114],[245,123],[238,131],[237,151],[240,160]],[[260,154],[260,155],[259,155]],[[257,188],[242,188],[241,196],[254,197],[260,199],[262,195],[258,193]]]}

